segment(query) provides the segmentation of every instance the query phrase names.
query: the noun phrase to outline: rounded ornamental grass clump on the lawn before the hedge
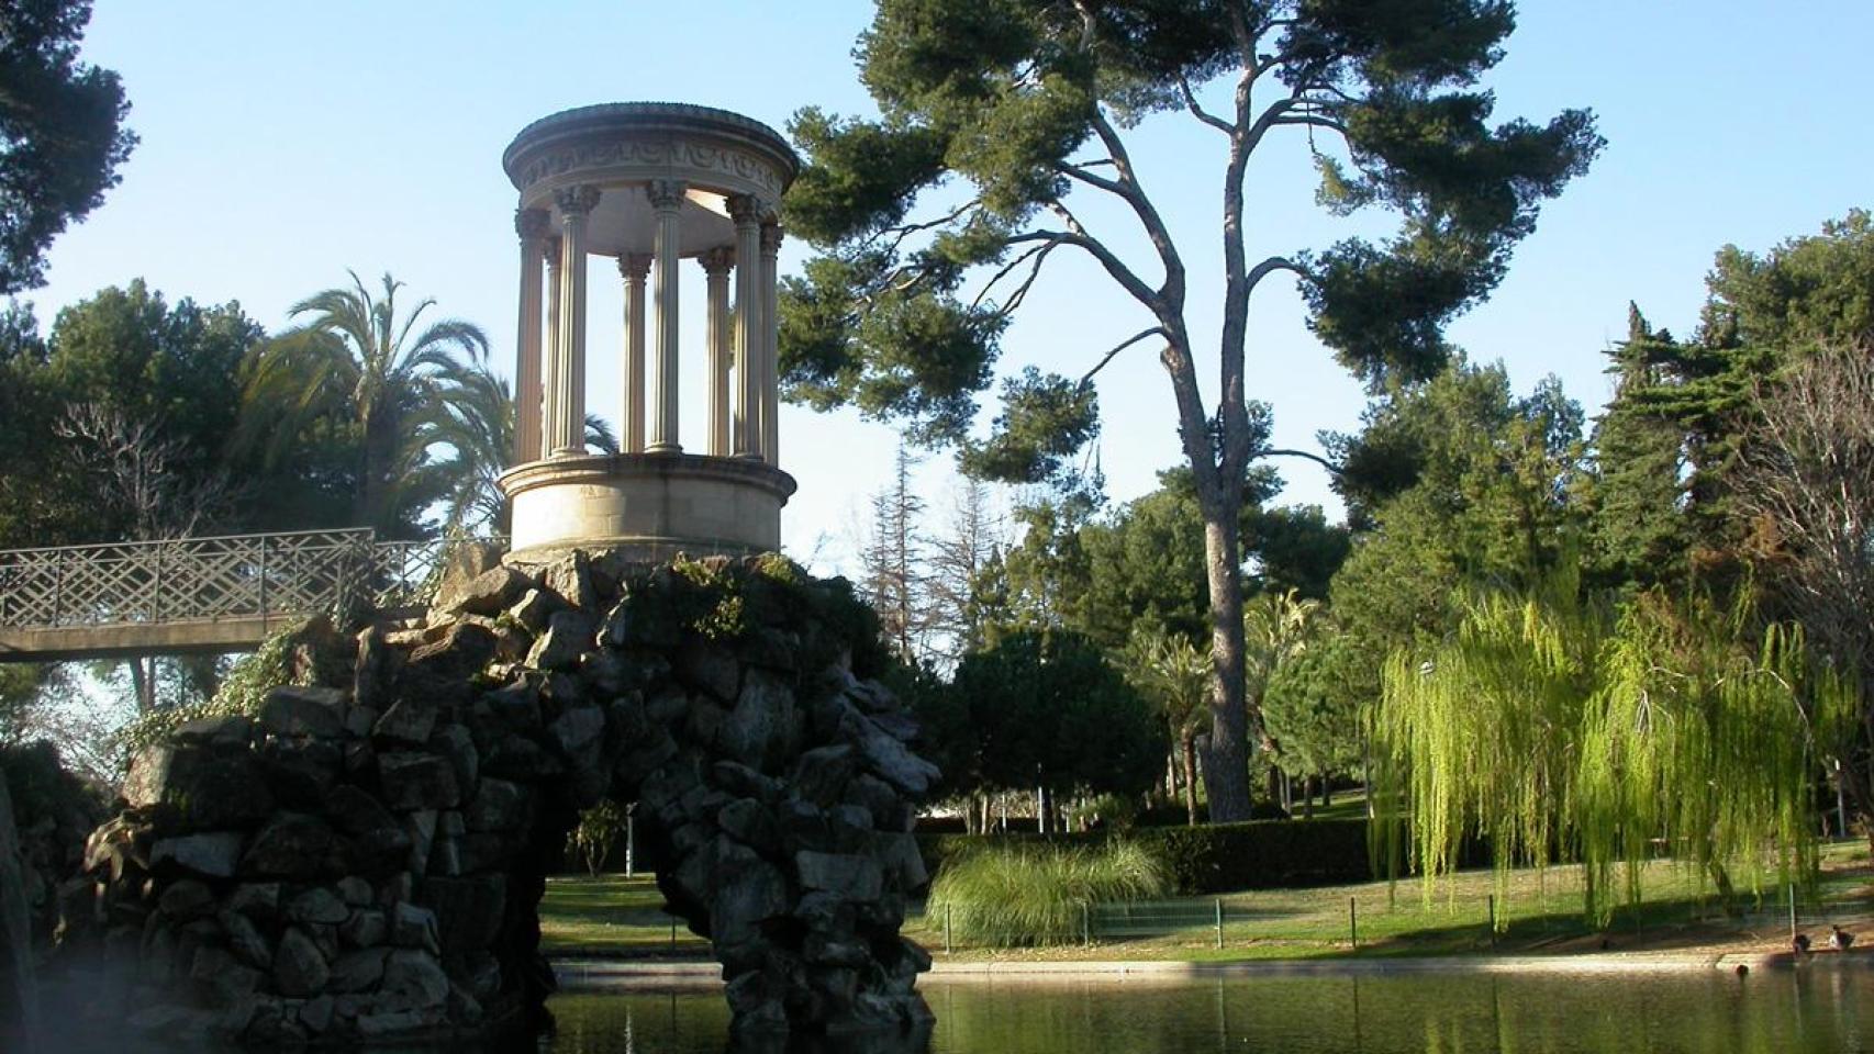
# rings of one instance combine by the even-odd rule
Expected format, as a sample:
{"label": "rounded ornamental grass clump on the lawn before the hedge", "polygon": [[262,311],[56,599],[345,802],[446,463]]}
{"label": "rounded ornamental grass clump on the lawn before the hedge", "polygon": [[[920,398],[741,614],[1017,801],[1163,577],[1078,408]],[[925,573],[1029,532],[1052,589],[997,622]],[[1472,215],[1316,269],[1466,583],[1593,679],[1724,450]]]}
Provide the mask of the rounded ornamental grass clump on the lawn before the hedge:
{"label": "rounded ornamental grass clump on the lawn before the hedge", "polygon": [[926,912],[971,944],[1068,944],[1081,938],[1087,904],[1147,900],[1169,889],[1164,863],[1132,842],[993,846],[950,861],[931,882]]}

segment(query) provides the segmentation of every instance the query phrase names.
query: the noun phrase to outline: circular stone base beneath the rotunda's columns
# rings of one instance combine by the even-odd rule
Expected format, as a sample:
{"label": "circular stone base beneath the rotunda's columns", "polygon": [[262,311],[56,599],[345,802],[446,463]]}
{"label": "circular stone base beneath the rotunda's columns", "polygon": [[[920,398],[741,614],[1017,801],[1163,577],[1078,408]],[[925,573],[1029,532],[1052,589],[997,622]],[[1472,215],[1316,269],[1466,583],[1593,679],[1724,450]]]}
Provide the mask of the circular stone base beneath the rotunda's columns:
{"label": "circular stone base beneath the rotunda's columns", "polygon": [[690,453],[555,457],[510,468],[498,483],[513,504],[510,562],[568,549],[643,560],[770,552],[795,492],[795,477],[772,464]]}

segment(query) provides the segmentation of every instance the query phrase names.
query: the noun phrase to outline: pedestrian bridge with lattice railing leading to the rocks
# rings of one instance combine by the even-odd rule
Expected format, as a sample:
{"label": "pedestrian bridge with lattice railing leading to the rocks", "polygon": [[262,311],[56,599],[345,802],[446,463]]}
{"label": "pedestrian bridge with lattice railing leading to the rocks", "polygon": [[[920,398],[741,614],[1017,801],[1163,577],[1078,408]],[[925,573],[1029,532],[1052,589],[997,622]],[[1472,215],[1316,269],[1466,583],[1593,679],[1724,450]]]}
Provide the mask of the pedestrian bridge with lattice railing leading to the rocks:
{"label": "pedestrian bridge with lattice railing leading to the rocks", "polygon": [[251,651],[309,614],[424,603],[454,545],[311,530],[0,550],[0,663]]}

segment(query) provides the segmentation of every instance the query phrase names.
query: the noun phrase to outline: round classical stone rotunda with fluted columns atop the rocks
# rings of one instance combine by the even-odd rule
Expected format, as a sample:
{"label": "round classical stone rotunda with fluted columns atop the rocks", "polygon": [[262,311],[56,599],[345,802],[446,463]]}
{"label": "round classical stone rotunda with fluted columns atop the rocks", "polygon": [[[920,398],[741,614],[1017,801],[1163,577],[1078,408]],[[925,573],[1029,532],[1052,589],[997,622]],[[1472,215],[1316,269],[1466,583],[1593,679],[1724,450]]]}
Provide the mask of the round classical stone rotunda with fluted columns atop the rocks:
{"label": "round classical stone rotunda with fluted columns atop the rocks", "polygon": [[[727,110],[611,103],[527,125],[502,167],[521,193],[517,449],[500,476],[510,558],[780,549],[795,492],[776,457],[776,206],[800,170],[787,140]],[[617,260],[624,283],[617,455],[585,446],[588,256]],[[686,277],[705,333],[678,331]],[[708,384],[688,451],[680,356],[703,356]]]}

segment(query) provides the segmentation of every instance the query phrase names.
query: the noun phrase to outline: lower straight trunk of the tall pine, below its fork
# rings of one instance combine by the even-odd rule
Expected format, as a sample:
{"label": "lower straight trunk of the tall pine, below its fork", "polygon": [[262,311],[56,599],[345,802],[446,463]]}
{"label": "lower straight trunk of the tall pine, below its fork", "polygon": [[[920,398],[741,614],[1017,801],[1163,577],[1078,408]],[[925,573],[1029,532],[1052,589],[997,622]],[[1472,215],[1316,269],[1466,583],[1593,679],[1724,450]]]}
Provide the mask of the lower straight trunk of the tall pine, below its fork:
{"label": "lower straight trunk of the tall pine, below its fork", "polygon": [[[1203,498],[1199,487],[1199,498]],[[1205,580],[1211,590],[1211,739],[1203,753],[1203,786],[1211,822],[1250,818],[1250,715],[1242,691],[1242,577],[1235,509],[1226,517],[1220,494],[1203,505]]]}

